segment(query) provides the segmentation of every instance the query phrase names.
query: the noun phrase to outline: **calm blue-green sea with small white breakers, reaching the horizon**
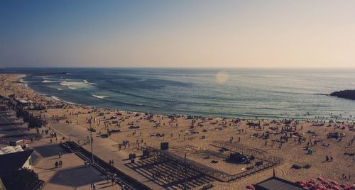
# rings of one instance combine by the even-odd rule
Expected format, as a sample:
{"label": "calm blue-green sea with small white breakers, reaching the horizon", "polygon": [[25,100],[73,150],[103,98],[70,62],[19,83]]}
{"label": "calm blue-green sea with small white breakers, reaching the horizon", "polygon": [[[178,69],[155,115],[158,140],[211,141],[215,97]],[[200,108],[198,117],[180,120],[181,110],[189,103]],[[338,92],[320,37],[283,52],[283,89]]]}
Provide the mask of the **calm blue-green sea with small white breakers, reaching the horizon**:
{"label": "calm blue-green sea with small white breakers, reaching the horizon", "polygon": [[[226,82],[216,79],[228,74]],[[28,86],[62,101],[164,114],[240,118],[355,115],[355,101],[320,94],[355,89],[354,69],[35,68]],[[67,74],[38,74],[67,72]]]}

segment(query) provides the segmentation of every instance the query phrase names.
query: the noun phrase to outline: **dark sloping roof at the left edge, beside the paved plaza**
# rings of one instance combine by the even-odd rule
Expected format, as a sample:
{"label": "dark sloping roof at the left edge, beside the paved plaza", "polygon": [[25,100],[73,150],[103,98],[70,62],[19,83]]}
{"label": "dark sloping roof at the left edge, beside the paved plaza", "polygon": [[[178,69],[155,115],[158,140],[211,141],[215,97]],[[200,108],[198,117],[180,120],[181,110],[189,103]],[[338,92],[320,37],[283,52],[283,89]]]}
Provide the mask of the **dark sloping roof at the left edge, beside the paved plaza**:
{"label": "dark sloping roof at the left edge, beside the paved plaza", "polygon": [[23,167],[33,150],[24,150],[0,155],[0,177]]}

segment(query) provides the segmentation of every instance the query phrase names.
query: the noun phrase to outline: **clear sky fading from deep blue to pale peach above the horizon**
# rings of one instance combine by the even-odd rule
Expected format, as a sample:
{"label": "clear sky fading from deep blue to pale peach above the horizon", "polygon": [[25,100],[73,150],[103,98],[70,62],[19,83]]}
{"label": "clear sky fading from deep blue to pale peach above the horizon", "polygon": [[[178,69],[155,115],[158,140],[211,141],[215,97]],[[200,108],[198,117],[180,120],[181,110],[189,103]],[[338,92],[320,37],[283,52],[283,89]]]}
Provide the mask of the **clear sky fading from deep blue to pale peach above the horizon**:
{"label": "clear sky fading from deep blue to pale peach above the horizon", "polygon": [[355,67],[355,1],[2,0],[0,67]]}

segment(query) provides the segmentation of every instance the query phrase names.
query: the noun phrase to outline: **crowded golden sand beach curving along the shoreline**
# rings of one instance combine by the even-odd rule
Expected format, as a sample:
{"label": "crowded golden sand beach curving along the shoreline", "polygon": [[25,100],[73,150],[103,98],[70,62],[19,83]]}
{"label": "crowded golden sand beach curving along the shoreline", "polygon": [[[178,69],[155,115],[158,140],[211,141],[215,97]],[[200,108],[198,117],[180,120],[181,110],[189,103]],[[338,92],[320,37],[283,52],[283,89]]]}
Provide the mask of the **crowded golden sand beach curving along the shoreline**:
{"label": "crowded golden sand beach curving along the shoreline", "polygon": [[[249,184],[272,177],[272,168],[275,169],[277,177],[290,181],[324,177],[342,184],[355,182],[355,131],[350,130],[351,126],[354,127],[351,118],[349,121],[339,122],[334,121],[335,117],[328,117],[327,121],[322,118],[267,120],[164,115],[96,108],[65,103],[55,97],[40,95],[20,82],[21,77],[24,76],[0,74],[0,95],[9,97],[14,94],[16,99],[44,106],[43,110],[30,112],[45,120],[48,126],[58,126],[58,130],[61,125],[67,125],[66,128],[72,130],[93,128],[97,138],[108,138],[114,142],[108,146],[119,152],[121,160],[126,160],[131,153],[141,156],[145,147],[160,149],[160,143],[166,142],[169,143],[168,151],[172,154],[181,157],[186,154],[188,160],[230,175],[246,171],[258,161],[256,159],[250,164],[226,162],[225,158],[229,157],[229,152],[221,152],[221,147],[215,146],[224,142],[261,151],[277,157],[280,163],[228,183],[211,181],[215,189],[244,189]],[[340,137],[327,138],[329,133],[340,134]],[[79,144],[88,139],[86,136],[72,138]],[[305,147],[310,150],[305,150]],[[332,160],[326,160],[326,157],[332,157]],[[129,165],[129,161],[121,162]],[[302,168],[293,169],[293,164]],[[304,167],[305,165],[310,167]],[[129,170],[129,167],[126,170]],[[132,173],[140,175],[138,172]],[[160,186],[169,184],[164,178],[157,181]]]}

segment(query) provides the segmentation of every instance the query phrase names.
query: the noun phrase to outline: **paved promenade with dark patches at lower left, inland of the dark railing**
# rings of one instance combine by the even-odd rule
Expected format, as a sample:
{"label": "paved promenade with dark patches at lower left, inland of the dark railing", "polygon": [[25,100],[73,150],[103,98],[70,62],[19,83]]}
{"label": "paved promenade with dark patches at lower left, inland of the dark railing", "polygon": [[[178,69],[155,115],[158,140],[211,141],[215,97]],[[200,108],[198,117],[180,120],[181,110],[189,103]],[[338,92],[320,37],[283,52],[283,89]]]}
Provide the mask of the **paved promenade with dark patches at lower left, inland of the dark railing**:
{"label": "paved promenade with dark patches at lower left, inland of the dark railing", "polygon": [[[49,135],[37,135],[35,129],[25,125],[12,125],[6,116],[0,113],[0,146],[7,145],[11,140],[28,139],[30,142],[31,137],[39,139],[28,146],[35,150],[31,155],[32,169],[39,179],[45,181],[44,190],[91,189],[92,182],[95,182],[97,189],[121,189],[119,185],[112,186],[107,177],[94,167],[85,167],[83,160],[74,153],[65,152],[58,143],[50,143]],[[62,152],[63,156],[59,158],[58,152]],[[63,163],[62,167],[56,168],[54,164],[59,160]]]}

